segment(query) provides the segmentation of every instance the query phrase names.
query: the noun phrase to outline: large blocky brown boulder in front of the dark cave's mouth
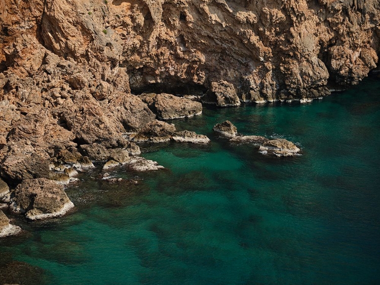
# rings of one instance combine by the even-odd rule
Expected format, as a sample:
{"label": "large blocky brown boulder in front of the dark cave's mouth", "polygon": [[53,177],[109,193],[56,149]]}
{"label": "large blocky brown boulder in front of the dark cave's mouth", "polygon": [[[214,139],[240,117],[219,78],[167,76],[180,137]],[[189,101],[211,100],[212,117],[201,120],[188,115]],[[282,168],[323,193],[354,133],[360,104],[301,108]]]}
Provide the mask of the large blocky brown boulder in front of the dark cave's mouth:
{"label": "large blocky brown boulder in front of the dark cave's mouth", "polygon": [[161,120],[189,118],[202,114],[202,104],[200,102],[171,94],[145,95],[145,101],[150,110],[156,113]]}

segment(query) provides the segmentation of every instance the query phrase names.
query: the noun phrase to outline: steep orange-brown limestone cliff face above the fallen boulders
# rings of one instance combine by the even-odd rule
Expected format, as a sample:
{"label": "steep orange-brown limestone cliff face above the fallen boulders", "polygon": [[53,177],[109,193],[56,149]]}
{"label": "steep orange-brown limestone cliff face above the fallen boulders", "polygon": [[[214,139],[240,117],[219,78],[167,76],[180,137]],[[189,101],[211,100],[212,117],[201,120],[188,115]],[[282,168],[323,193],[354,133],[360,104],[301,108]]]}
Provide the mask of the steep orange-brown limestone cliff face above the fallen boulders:
{"label": "steep orange-brown limestone cliff face above the fallen boulders", "polygon": [[0,8],[3,70],[30,76],[45,47],[136,93],[194,93],[223,80],[242,101],[317,97],[328,83],[358,83],[379,51],[375,0],[3,0]]}

